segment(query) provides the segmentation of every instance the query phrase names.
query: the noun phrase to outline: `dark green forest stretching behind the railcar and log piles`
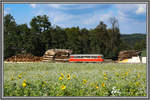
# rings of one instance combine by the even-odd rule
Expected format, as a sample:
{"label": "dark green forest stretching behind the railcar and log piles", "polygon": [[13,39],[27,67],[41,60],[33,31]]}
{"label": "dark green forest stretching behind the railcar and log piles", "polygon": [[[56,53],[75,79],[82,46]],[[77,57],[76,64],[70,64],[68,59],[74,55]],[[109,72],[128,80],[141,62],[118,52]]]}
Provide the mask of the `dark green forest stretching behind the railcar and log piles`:
{"label": "dark green forest stretching behind the railcar and log piles", "polygon": [[121,50],[146,48],[146,35],[141,39],[137,34],[135,37],[122,35],[115,17],[110,17],[111,28],[103,21],[93,29],[61,28],[53,26],[47,15],[35,16],[29,24],[17,24],[10,14],[4,16],[4,59],[26,53],[43,56],[48,49],[70,49],[73,54],[115,58]]}

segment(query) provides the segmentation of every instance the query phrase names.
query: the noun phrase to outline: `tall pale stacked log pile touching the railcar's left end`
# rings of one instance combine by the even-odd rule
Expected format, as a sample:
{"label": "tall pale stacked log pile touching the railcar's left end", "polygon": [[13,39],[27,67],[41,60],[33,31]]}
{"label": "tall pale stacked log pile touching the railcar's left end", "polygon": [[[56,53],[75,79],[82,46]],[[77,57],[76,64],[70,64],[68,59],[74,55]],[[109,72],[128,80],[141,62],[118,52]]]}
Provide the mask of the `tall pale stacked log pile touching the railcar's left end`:
{"label": "tall pale stacked log pile touching the railcar's left end", "polygon": [[49,49],[43,56],[43,62],[68,62],[71,50],[67,49]]}

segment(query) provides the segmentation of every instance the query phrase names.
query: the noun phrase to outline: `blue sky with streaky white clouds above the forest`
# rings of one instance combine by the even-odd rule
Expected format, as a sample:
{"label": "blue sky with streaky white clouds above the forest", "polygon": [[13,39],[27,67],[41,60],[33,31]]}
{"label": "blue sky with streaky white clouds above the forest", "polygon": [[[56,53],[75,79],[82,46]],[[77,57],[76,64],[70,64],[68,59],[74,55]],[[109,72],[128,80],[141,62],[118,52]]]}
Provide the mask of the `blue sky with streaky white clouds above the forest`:
{"label": "blue sky with streaky white clouds above the forest", "polygon": [[6,14],[17,24],[29,25],[33,17],[45,14],[53,26],[87,29],[100,21],[110,28],[110,18],[116,17],[121,34],[146,33],[146,4],[4,4]]}

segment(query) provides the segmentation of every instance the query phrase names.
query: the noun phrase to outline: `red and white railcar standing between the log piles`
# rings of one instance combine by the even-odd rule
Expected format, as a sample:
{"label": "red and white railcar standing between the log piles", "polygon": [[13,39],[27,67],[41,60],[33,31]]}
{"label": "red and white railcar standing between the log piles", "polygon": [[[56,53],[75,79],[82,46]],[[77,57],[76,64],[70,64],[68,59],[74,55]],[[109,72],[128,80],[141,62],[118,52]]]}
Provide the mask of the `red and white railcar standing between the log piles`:
{"label": "red and white railcar standing between the log piles", "polygon": [[100,54],[72,54],[69,62],[103,62],[103,55]]}

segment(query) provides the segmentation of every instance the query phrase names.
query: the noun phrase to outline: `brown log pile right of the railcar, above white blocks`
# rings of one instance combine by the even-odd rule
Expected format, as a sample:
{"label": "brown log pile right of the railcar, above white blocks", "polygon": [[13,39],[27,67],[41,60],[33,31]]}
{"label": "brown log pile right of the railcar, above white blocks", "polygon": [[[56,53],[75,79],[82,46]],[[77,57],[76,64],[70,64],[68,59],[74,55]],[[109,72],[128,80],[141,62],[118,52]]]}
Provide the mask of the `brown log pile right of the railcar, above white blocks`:
{"label": "brown log pile right of the railcar, above white blocks", "polygon": [[124,59],[129,59],[132,57],[140,56],[142,51],[137,50],[124,50],[119,52],[118,61],[122,61]]}

